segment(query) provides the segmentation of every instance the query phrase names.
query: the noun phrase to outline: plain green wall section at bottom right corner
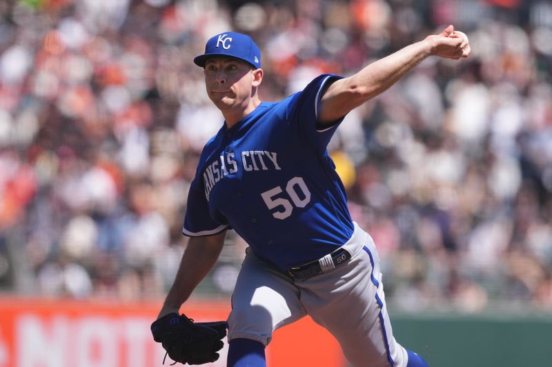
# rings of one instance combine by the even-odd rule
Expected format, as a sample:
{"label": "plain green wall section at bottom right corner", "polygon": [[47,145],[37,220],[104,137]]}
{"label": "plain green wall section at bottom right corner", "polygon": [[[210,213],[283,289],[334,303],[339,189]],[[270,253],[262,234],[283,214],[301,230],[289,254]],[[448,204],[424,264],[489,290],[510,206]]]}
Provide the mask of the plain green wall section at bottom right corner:
{"label": "plain green wall section at bottom right corner", "polygon": [[392,313],[391,324],[430,367],[552,367],[552,315]]}

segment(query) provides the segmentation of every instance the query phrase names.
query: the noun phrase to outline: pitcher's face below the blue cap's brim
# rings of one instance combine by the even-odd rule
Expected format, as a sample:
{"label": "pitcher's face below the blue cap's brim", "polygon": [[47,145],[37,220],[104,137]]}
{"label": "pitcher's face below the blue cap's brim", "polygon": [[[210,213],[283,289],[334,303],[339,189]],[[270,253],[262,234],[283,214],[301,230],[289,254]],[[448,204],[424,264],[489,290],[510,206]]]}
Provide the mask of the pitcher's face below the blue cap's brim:
{"label": "pitcher's face below the blue cap's brim", "polygon": [[247,109],[253,87],[260,83],[258,72],[259,69],[254,69],[245,61],[233,57],[213,57],[205,63],[207,94],[221,111]]}

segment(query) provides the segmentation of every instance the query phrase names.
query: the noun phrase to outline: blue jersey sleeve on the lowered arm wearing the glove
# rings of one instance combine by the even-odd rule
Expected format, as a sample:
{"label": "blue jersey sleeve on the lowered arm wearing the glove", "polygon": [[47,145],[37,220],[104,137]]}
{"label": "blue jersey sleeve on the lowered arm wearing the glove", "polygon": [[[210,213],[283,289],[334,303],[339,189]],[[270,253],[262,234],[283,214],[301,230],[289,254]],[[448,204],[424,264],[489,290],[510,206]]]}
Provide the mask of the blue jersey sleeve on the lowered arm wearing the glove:
{"label": "blue jersey sleeve on the lowered arm wearing the glove", "polygon": [[228,224],[221,224],[211,218],[202,182],[201,178],[196,176],[188,191],[188,204],[182,234],[189,237],[216,235],[230,228]]}

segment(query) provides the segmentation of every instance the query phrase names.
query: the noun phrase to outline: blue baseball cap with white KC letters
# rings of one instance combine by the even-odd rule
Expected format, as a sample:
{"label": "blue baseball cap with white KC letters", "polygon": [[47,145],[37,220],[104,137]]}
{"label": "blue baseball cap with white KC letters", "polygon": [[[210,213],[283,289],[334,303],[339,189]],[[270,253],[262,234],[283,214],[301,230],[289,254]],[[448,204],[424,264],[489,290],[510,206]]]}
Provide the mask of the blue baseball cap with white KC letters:
{"label": "blue baseball cap with white KC letters", "polygon": [[205,45],[205,53],[196,56],[194,63],[205,67],[206,61],[213,56],[231,56],[261,67],[261,51],[247,34],[223,32],[211,37]]}

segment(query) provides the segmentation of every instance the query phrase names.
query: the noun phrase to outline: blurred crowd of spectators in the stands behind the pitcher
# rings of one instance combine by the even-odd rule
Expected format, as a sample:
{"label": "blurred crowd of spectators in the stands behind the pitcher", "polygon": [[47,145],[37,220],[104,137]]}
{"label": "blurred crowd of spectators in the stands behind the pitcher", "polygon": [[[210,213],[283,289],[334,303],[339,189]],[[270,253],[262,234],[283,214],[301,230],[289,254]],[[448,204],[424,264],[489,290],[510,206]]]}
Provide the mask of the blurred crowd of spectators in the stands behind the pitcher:
{"label": "blurred crowd of spectators in the stands behind the pitcher", "polygon": [[[396,308],[552,310],[552,3],[536,0],[2,1],[0,290],[162,299],[223,121],[192,62],[213,34],[254,37],[277,101],[449,24],[469,59],[426,59],[331,141],[351,214]],[[231,293],[246,244],[227,238],[197,294]]]}

